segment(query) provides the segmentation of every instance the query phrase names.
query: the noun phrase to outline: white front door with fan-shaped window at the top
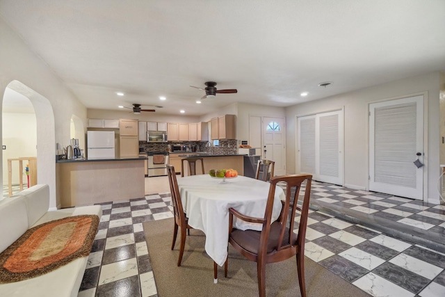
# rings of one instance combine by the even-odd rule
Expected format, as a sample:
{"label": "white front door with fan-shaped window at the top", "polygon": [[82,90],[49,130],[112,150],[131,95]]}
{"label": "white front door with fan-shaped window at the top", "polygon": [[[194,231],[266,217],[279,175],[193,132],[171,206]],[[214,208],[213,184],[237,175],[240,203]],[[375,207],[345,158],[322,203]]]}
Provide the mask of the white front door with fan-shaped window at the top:
{"label": "white front door with fan-shaped window at the top", "polygon": [[286,174],[286,127],[284,118],[263,118],[262,157],[275,161],[274,175]]}

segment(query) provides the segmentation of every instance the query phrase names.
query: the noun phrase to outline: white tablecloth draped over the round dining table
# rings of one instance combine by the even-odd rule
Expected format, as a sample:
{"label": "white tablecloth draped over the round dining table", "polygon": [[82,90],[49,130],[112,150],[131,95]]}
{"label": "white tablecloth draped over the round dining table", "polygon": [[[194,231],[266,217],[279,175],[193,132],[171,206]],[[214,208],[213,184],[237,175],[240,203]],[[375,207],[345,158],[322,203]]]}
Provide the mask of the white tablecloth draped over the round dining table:
{"label": "white tablecloth draped over the round dining table", "polygon": [[[229,208],[241,214],[263,218],[270,184],[250,177],[213,179],[210,175],[178,177],[178,186],[188,225],[206,234],[205,250],[218,264],[223,266],[227,257],[229,240]],[[272,220],[280,216],[284,191],[277,186],[273,204]],[[261,230],[261,225],[234,221],[241,230]]]}

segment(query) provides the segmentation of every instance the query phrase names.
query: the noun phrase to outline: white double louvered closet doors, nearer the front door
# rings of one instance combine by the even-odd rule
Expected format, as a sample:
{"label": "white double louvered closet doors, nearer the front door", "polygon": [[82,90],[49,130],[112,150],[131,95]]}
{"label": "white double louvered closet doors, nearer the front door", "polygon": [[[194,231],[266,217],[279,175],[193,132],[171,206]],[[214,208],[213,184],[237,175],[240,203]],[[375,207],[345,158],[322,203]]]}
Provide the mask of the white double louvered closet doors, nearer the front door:
{"label": "white double louvered closet doors, nearer the front door", "polygon": [[298,172],[343,185],[343,111],[297,119]]}

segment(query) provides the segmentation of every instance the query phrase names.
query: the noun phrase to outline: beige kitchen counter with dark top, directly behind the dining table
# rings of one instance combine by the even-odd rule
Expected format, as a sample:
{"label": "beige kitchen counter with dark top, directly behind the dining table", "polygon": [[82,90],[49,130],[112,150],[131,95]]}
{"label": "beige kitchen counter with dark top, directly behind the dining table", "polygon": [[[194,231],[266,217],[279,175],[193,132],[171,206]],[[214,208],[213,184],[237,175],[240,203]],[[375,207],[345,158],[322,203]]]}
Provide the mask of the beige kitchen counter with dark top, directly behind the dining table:
{"label": "beige kitchen counter with dark top, directly behind the dining table", "polygon": [[[191,152],[178,154],[181,158],[202,158],[204,160],[204,174],[211,169],[234,169],[238,175],[244,175],[244,154],[211,154],[207,152]],[[184,176],[188,175],[187,164],[184,163]],[[198,168],[200,168],[198,166]],[[176,170],[175,171],[180,171]],[[200,169],[197,169],[200,172]]]}

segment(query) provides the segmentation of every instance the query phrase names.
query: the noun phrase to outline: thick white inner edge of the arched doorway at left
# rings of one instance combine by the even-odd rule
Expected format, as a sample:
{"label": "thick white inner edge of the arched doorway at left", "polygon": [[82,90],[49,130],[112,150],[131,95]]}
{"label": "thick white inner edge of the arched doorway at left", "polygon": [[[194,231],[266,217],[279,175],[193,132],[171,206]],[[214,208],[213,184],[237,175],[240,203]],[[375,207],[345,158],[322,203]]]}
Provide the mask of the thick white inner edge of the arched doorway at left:
{"label": "thick white inner edge of the arched doorway at left", "polygon": [[[11,81],[6,88],[15,91],[28,98],[35,111],[36,122],[36,152],[37,152],[37,182],[38,184],[49,185],[49,207],[57,208],[56,202],[56,136],[54,125],[54,111],[48,99],[35,92],[31,88],[25,86],[19,81]],[[5,90],[5,94],[6,90]],[[4,95],[3,95],[4,97]],[[3,102],[3,98],[1,98]],[[3,143],[3,140],[1,140]],[[0,156],[1,163],[6,160]],[[1,174],[1,182],[8,177]]]}

